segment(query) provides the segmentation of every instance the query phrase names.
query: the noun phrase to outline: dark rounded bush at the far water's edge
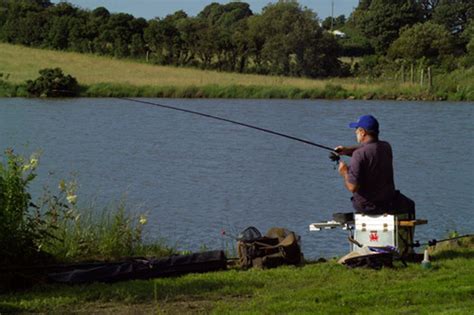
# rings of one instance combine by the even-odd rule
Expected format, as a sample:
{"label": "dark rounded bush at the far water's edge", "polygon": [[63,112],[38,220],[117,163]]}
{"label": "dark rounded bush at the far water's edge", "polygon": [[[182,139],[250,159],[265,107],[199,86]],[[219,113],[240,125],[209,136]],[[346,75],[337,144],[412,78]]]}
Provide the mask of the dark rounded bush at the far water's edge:
{"label": "dark rounded bush at the far water's edge", "polygon": [[46,68],[39,71],[40,76],[32,81],[26,81],[26,89],[31,96],[67,97],[79,93],[77,80],[64,75],[60,68]]}

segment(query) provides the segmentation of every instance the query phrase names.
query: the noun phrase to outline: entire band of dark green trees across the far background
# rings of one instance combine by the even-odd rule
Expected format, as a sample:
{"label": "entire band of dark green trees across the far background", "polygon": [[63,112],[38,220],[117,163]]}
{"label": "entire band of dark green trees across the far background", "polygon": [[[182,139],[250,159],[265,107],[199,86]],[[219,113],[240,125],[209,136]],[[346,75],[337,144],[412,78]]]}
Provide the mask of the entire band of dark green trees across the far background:
{"label": "entire band of dark green trees across the far background", "polygon": [[[197,16],[177,11],[146,20],[104,7],[2,0],[0,40],[161,65],[314,78],[348,75],[342,55],[370,56],[361,63],[366,68],[420,59],[472,65],[473,14],[471,0],[361,0],[347,19],[321,21],[297,1],[280,0],[259,14],[245,2],[211,3]],[[345,36],[333,35],[336,28]]]}

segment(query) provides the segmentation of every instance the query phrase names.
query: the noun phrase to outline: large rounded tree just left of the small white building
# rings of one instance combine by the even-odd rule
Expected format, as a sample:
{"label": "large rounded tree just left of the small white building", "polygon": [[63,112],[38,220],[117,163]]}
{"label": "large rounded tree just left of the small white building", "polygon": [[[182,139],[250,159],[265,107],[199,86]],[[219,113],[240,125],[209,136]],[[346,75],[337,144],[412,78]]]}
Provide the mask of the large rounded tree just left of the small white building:
{"label": "large rounded tree just left of the small white building", "polygon": [[319,26],[317,15],[296,1],[279,1],[264,8],[262,59],[272,74],[328,76],[337,74],[339,46]]}

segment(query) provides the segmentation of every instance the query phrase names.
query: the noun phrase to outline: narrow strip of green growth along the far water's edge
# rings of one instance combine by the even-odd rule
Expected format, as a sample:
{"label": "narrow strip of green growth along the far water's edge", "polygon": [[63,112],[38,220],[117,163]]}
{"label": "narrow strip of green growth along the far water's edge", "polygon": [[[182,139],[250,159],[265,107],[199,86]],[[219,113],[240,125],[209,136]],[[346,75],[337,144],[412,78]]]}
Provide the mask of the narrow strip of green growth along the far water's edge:
{"label": "narrow strip of green growth along the far water's edge", "polygon": [[[29,97],[24,84],[0,86],[0,97]],[[418,88],[354,89],[328,83],[322,88],[270,87],[245,85],[134,86],[97,83],[81,86],[77,97],[147,97],[189,99],[326,99],[395,101],[474,101],[474,93],[430,93]],[[42,97],[46,98],[46,97]]]}

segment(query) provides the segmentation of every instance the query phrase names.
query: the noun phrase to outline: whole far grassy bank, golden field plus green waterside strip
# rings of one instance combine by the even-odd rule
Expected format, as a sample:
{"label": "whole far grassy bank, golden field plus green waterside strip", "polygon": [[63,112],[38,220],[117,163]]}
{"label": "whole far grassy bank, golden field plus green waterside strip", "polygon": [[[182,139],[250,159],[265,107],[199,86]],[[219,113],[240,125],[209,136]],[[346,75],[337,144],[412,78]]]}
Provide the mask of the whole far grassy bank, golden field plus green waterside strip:
{"label": "whole far grassy bank, golden field plus green waterside strip", "polygon": [[110,57],[0,44],[0,96],[26,96],[23,83],[60,67],[82,96],[474,100],[474,69],[434,77],[433,89],[390,79],[312,80],[155,66]]}

